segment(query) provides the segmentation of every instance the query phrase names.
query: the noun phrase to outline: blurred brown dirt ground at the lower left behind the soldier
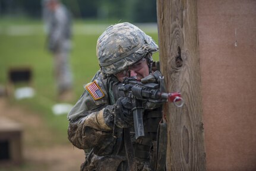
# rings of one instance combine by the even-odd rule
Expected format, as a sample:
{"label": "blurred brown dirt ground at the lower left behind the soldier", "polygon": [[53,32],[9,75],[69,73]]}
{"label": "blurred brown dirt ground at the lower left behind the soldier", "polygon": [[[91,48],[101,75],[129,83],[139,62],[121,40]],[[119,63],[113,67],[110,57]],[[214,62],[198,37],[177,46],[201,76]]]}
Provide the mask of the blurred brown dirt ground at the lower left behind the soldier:
{"label": "blurred brown dirt ground at the lower left behind the soldier", "polygon": [[11,119],[23,127],[23,163],[19,166],[0,164],[0,170],[80,170],[84,161],[83,150],[71,143],[53,143],[56,135],[45,126],[40,115],[35,114],[19,106],[10,106],[0,97],[0,118]]}

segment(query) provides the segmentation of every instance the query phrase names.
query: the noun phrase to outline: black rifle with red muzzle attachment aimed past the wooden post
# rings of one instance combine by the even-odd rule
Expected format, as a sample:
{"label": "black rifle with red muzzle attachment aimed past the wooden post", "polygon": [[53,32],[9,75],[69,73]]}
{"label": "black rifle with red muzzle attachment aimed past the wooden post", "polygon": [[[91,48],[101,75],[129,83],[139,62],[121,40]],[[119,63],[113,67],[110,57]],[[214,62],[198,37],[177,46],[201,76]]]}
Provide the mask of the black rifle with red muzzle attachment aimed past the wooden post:
{"label": "black rifle with red muzzle attachment aimed past the wooden post", "polygon": [[181,98],[181,93],[166,93],[164,90],[164,77],[160,77],[159,80],[160,84],[143,84],[140,81],[137,81],[137,77],[125,77],[122,86],[118,88],[120,91],[129,92],[128,97],[135,106],[132,109],[132,113],[134,118],[134,131],[136,139],[144,136],[144,102],[160,104],[173,102],[176,107],[182,107],[184,104],[184,100]]}

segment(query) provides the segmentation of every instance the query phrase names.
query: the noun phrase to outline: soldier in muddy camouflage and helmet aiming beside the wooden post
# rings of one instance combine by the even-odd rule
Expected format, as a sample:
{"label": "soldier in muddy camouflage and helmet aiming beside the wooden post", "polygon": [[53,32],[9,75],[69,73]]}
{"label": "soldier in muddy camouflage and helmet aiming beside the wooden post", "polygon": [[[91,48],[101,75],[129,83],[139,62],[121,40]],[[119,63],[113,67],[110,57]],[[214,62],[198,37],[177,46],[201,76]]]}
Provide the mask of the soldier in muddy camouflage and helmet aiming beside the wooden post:
{"label": "soldier in muddy camouflage and helmet aiming beside the wooden post", "polygon": [[[145,105],[145,136],[135,140],[132,104],[118,87],[128,76],[141,83],[156,83],[160,72],[152,71],[152,53],[157,50],[154,40],[130,23],[108,27],[97,40],[100,70],[68,113],[68,139],[86,153],[81,170],[154,170],[161,109]],[[128,140],[124,138],[126,128],[131,129]],[[135,159],[129,158],[130,152]]]}

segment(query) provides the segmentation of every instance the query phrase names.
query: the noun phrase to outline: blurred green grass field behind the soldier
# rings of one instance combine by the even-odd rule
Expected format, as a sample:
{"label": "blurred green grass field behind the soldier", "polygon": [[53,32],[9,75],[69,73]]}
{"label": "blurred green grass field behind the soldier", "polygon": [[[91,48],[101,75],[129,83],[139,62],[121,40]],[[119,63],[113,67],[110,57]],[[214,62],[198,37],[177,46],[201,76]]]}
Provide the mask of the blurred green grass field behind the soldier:
{"label": "blurred green grass field behind the soldier", "polygon": [[[96,41],[110,24],[74,21],[70,64],[76,99],[83,93],[83,85],[88,83],[99,69],[96,58]],[[145,28],[146,33],[157,41],[157,30],[150,30],[147,26]],[[157,55],[154,55],[154,59],[158,58]],[[9,68],[31,67],[36,96],[25,100],[10,98],[10,103],[40,113],[50,128],[59,131],[60,140],[67,142],[67,116],[56,116],[52,113],[52,106],[58,103],[52,65],[52,55],[45,48],[42,21],[0,19],[0,85],[7,85]],[[76,101],[74,100],[72,104],[74,105]]]}

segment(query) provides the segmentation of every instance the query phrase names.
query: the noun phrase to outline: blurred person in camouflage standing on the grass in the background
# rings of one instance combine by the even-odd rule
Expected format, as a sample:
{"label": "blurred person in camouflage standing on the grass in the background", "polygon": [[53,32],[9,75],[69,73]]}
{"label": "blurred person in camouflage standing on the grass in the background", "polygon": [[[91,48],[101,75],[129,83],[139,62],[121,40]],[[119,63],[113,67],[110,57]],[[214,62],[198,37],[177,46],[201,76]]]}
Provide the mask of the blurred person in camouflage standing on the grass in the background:
{"label": "blurred person in camouflage standing on the grass in the background", "polygon": [[53,69],[58,87],[58,98],[70,101],[73,98],[72,74],[69,68],[71,50],[72,18],[68,9],[59,0],[42,0],[43,20],[48,34],[48,50],[53,54]]}

